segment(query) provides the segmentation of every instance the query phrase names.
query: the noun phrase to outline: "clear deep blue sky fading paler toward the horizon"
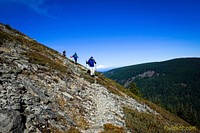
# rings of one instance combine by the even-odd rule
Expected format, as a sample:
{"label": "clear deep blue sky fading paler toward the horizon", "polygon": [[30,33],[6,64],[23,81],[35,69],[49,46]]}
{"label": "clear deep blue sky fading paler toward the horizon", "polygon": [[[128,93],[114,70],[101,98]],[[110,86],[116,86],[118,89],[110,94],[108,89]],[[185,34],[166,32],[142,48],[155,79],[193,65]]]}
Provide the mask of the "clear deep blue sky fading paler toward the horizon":
{"label": "clear deep blue sky fading paler toward the horizon", "polygon": [[0,0],[0,22],[83,65],[200,57],[200,0]]}

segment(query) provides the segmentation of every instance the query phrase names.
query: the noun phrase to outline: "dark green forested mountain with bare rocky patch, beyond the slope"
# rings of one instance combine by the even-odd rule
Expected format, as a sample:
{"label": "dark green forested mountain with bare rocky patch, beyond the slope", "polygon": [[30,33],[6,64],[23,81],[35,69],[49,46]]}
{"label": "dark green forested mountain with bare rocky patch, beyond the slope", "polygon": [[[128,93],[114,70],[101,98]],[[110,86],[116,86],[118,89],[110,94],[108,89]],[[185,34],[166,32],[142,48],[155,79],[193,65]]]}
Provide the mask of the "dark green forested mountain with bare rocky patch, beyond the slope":
{"label": "dark green forested mountain with bare rocky patch, beyond the slope", "polygon": [[180,58],[104,73],[125,87],[135,83],[144,98],[200,127],[200,58]]}

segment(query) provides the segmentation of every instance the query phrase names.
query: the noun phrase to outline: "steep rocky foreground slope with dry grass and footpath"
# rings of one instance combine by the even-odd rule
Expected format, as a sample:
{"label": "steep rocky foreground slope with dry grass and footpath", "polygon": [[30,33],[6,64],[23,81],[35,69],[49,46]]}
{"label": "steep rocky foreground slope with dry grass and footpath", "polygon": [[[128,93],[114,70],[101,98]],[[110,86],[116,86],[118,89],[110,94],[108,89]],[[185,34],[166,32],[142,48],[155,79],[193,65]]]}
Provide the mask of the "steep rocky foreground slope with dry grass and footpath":
{"label": "steep rocky foreground slope with dry grass and footpath", "polygon": [[198,132],[96,75],[95,81],[85,67],[0,24],[0,132]]}

